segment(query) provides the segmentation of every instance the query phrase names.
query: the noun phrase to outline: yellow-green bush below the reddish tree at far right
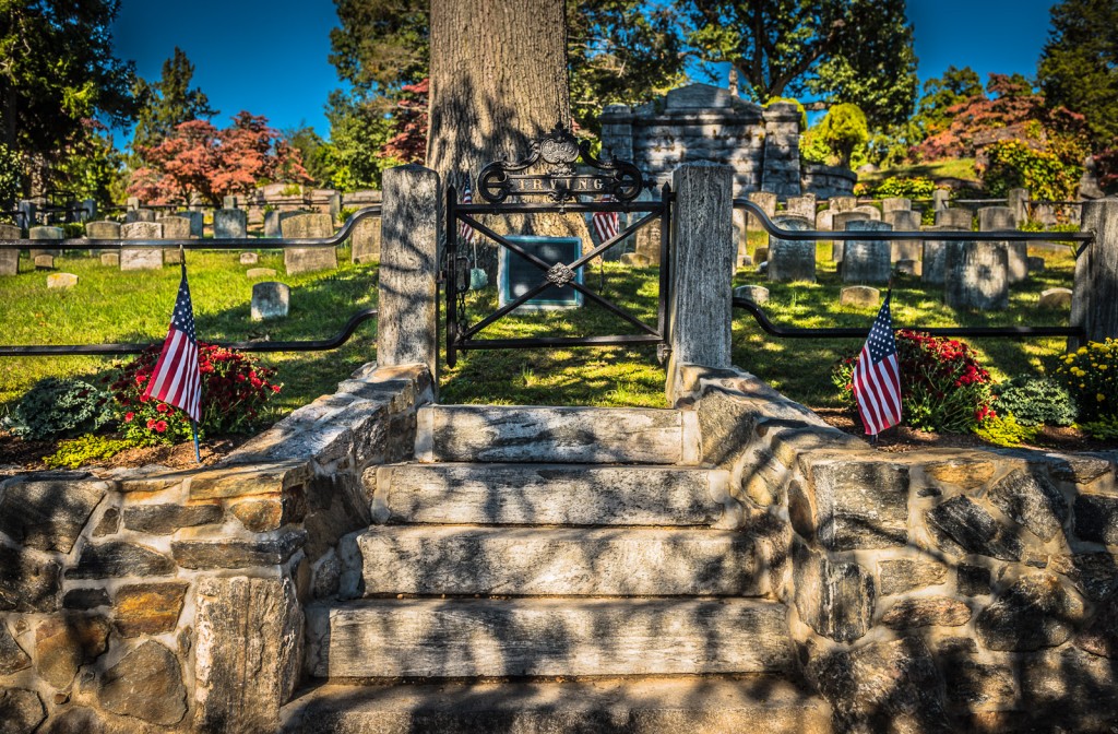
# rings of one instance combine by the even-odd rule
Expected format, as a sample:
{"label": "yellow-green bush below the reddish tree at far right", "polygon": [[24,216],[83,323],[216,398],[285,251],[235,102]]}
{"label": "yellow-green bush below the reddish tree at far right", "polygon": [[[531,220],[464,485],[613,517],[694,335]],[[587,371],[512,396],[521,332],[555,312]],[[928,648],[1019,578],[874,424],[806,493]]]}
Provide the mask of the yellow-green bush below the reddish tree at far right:
{"label": "yellow-green bush below the reddish tree at far right", "polygon": [[1034,150],[1020,140],[1001,140],[987,149],[987,156],[983,182],[995,196],[1026,188],[1033,198],[1063,201],[1074,198],[1083,172],[1055,153]]}

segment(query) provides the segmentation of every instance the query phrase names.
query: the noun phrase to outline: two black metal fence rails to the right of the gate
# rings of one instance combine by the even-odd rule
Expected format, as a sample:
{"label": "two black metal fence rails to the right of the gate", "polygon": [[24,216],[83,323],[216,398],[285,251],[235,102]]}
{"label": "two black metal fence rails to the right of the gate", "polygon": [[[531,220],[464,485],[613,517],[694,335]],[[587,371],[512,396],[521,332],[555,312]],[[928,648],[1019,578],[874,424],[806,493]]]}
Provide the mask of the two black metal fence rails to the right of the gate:
{"label": "two black metal fence rails to the right of the gate", "polygon": [[[859,229],[844,232],[824,232],[818,229],[785,229],[774,223],[765,210],[757,204],[748,199],[735,199],[733,207],[743,209],[755,217],[770,236],[778,239],[793,242],[817,242],[819,239],[828,242],[1065,242],[1078,244],[1076,258],[1079,260],[1083,252],[1093,243],[1095,234],[1090,232],[902,232],[902,230],[874,230]],[[771,255],[771,251],[770,251]],[[1078,270],[1078,269],[1077,269]],[[765,310],[752,301],[743,298],[733,299],[733,308],[748,312],[757,321],[762,331],[773,337],[785,339],[833,339],[843,337],[865,338],[870,332],[870,327],[856,328],[805,328],[805,327],[780,327],[765,313]],[[980,338],[1007,338],[1029,339],[1042,337],[1069,337],[1072,339],[1086,340],[1086,331],[1082,326],[1051,327],[1051,326],[1025,326],[1025,327],[945,327],[925,328],[919,324],[897,326],[896,329],[917,329],[937,337],[980,337]]]}

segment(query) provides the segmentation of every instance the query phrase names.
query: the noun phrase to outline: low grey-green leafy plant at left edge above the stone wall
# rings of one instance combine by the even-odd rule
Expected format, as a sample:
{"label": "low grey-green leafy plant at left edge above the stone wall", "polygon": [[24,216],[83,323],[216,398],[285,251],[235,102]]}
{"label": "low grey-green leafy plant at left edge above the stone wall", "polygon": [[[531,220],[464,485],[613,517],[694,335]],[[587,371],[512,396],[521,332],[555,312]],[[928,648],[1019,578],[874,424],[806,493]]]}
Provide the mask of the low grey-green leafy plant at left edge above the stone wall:
{"label": "low grey-green leafy plant at left edge above the stone wall", "polygon": [[46,377],[20,398],[3,424],[15,435],[42,440],[91,433],[111,418],[107,394],[73,377]]}

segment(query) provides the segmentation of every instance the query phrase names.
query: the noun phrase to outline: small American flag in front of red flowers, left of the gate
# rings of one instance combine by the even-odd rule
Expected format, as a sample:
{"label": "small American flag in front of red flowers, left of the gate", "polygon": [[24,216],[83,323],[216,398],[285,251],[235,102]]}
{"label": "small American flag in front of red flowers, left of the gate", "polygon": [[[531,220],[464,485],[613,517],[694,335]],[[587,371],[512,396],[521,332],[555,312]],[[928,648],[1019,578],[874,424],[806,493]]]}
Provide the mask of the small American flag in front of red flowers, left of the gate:
{"label": "small American flag in front of red flowers, left of the gate", "polygon": [[171,328],[144,395],[182,408],[197,423],[201,417],[201,393],[195,310],[187,285],[187,264],[182,263],[182,280],[174,301],[174,313],[171,314]]}

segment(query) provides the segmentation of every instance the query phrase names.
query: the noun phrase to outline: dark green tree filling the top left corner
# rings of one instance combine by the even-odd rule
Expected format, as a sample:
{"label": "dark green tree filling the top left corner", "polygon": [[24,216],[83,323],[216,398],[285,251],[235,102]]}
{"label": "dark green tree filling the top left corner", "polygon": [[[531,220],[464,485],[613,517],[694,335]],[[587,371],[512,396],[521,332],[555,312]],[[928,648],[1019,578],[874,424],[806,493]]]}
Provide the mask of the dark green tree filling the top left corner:
{"label": "dark green tree filling the top left corner", "polygon": [[0,142],[29,170],[25,194],[49,186],[89,122],[123,126],[134,116],[131,64],[113,56],[117,0],[0,2]]}

